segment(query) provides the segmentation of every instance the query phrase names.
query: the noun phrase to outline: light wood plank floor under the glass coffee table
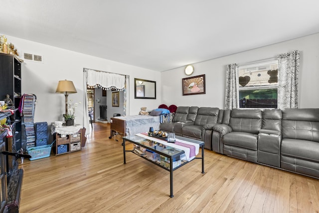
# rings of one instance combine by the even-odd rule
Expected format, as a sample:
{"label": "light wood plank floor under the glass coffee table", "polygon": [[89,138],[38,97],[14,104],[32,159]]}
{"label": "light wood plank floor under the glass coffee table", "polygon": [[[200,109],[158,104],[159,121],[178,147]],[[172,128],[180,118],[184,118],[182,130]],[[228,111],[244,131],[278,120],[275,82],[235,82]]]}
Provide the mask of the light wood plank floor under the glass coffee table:
{"label": "light wood plank floor under the glass coffee table", "polygon": [[205,174],[194,160],[169,173],[127,153],[94,124],[82,151],[29,161],[20,213],[203,212],[318,213],[319,180],[205,150]]}

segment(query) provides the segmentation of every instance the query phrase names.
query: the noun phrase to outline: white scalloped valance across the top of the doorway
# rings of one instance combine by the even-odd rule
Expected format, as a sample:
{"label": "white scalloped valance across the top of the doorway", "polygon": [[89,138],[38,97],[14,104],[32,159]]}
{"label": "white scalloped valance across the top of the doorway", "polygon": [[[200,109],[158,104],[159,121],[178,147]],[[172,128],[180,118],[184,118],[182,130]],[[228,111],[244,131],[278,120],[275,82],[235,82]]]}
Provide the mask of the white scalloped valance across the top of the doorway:
{"label": "white scalloped valance across the top of the doorway", "polygon": [[92,87],[101,87],[103,89],[124,89],[125,87],[125,75],[119,75],[115,73],[96,71],[87,69],[88,78],[87,85]]}

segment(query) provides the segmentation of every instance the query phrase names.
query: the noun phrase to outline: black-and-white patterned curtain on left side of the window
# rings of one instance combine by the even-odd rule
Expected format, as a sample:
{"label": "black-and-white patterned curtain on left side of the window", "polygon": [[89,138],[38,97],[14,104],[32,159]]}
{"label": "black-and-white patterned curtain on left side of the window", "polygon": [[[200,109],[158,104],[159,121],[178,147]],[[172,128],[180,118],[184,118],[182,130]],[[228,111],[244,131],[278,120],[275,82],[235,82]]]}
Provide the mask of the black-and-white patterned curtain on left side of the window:
{"label": "black-and-white patterned curtain on left side of the window", "polygon": [[237,64],[228,64],[226,71],[226,94],[225,109],[233,109],[238,107],[238,74],[236,72]]}

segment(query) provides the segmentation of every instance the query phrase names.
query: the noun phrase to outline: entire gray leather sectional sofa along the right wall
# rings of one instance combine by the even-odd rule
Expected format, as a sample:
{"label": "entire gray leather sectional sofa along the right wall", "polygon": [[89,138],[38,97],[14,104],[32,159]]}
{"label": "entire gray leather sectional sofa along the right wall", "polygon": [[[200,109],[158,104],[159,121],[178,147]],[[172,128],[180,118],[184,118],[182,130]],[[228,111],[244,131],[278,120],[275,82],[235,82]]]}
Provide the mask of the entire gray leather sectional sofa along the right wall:
{"label": "entire gray leather sectional sofa along the right wall", "polygon": [[173,123],[160,129],[204,141],[216,153],[319,179],[319,109],[178,107]]}

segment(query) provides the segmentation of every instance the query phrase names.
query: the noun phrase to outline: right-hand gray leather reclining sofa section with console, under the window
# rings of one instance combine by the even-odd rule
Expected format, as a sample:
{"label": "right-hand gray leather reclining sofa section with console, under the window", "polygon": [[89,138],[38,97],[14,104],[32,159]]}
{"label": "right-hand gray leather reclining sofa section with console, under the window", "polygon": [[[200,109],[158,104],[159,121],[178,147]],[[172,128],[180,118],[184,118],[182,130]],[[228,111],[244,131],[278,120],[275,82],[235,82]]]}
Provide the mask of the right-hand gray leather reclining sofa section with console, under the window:
{"label": "right-hand gray leather reclining sofa section with console, under the window", "polygon": [[319,179],[319,109],[225,110],[212,149]]}

